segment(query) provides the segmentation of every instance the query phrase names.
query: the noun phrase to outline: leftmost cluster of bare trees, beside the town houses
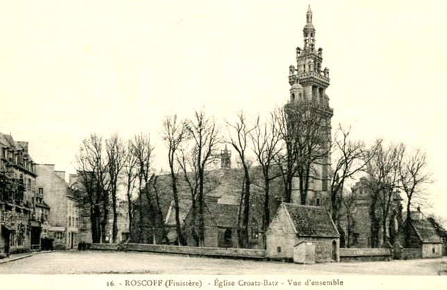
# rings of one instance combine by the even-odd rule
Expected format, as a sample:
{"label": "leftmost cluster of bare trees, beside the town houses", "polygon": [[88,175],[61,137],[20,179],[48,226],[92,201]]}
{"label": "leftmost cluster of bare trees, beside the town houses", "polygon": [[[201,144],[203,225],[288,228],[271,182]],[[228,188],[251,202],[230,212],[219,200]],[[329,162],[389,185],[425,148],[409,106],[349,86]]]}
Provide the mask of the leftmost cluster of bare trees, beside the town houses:
{"label": "leftmost cluster of bare trees, beside the town houses", "polygon": [[151,172],[153,145],[149,135],[135,135],[124,142],[114,134],[107,139],[92,133],[83,139],[76,155],[78,197],[88,208],[92,241],[105,242],[112,210],[112,242],[117,241],[118,202],[120,187],[126,188],[129,227],[132,226],[134,192],[144,194],[146,184],[153,178]]}

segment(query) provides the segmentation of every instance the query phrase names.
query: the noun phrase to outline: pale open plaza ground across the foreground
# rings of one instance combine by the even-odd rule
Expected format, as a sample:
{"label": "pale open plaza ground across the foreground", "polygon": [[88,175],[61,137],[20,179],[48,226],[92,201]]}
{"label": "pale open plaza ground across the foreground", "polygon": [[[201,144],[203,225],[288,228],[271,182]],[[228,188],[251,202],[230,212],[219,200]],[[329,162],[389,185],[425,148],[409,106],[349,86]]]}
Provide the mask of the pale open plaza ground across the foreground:
{"label": "pale open plaza ground across the foreground", "polygon": [[134,252],[60,251],[0,264],[0,274],[439,275],[442,259],[300,265]]}

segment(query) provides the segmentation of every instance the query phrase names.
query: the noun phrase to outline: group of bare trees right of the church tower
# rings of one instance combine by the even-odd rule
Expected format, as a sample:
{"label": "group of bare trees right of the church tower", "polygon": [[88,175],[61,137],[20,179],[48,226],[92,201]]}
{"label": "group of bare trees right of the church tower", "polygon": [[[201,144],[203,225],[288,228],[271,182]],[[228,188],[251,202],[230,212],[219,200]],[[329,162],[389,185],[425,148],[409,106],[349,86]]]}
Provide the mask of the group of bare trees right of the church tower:
{"label": "group of bare trees right of the church tower", "polygon": [[[356,222],[354,213],[358,210],[357,201],[360,199],[366,200],[369,205],[369,246],[377,248],[387,241],[393,244],[398,234],[405,234],[405,241],[408,241],[410,232],[402,226],[404,221],[400,207],[405,205],[407,218],[411,219],[408,213],[414,203],[429,205],[427,189],[433,180],[425,152],[403,143],[385,144],[382,139],[376,139],[371,146],[367,146],[350,135],[351,128],[341,126],[335,134],[335,162],[330,186],[333,221],[340,227],[341,216],[346,216],[346,245],[349,246],[353,234]],[[359,179],[357,188],[344,192],[347,185]],[[403,205],[400,203],[401,196],[405,198]]]}

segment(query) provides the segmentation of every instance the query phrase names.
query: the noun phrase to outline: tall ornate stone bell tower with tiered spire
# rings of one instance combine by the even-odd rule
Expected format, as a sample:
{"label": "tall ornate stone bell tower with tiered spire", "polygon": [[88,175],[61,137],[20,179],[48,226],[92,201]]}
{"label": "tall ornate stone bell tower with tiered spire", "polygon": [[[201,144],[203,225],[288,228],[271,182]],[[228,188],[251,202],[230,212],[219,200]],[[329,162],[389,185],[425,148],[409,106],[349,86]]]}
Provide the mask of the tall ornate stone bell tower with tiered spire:
{"label": "tall ornate stone bell tower with tiered spire", "polygon": [[[326,89],[329,86],[329,69],[323,69],[323,49],[316,49],[315,27],[312,24],[312,10],[310,6],[306,13],[306,22],[303,28],[303,49],[296,47],[296,67],[289,67],[290,99],[286,106],[301,107],[312,106],[322,114],[328,146],[330,148],[331,126],[330,120],[334,114],[329,106],[329,96]],[[325,148],[325,149],[327,149]],[[307,192],[307,205],[323,205],[328,198],[330,180],[330,153],[314,164],[314,173],[310,175],[310,188]],[[298,178],[296,178],[298,179]],[[298,179],[299,180],[299,179]],[[298,181],[292,187],[292,201],[299,203]]]}

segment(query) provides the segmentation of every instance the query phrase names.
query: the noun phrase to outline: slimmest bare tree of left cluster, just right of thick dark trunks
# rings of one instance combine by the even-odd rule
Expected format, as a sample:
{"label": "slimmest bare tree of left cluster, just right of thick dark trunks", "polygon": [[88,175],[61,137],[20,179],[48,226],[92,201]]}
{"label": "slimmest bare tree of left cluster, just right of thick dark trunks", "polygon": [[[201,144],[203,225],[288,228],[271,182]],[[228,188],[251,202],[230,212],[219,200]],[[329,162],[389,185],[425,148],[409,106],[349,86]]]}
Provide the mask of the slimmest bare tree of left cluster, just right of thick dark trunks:
{"label": "slimmest bare tree of left cluster, just right of thick dark trunks", "polygon": [[137,180],[137,156],[135,155],[132,140],[129,140],[126,148],[126,161],[124,164],[124,178],[126,182],[126,201],[129,217],[129,233],[132,234],[133,223],[133,191]]}

